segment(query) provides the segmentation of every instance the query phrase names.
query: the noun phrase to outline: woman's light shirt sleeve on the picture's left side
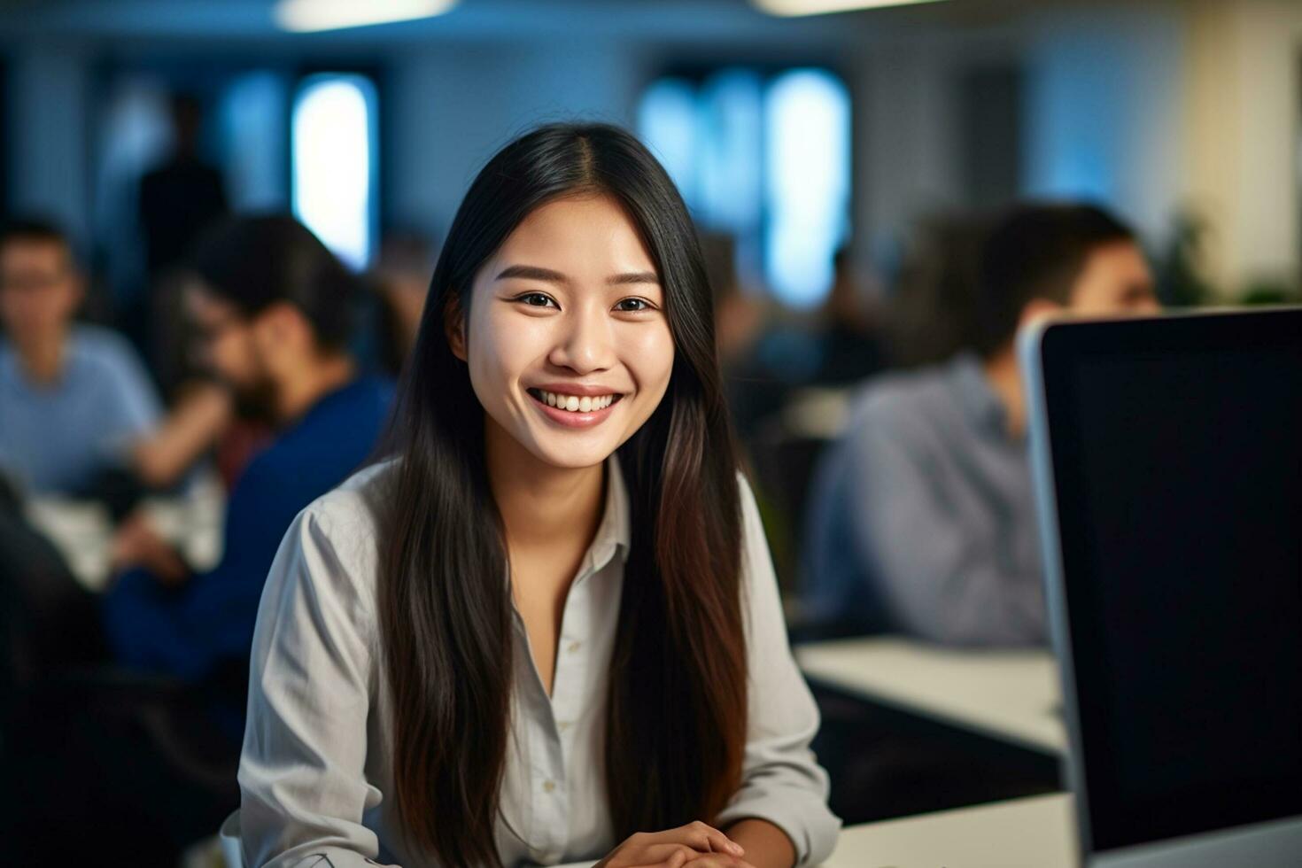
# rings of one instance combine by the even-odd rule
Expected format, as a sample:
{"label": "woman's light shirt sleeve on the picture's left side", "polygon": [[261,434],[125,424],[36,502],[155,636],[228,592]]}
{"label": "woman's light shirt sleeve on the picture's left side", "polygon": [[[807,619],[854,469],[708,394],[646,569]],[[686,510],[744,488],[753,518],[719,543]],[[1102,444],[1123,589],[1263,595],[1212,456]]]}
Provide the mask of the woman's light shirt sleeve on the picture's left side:
{"label": "woman's light shirt sleeve on the picture's left side", "polygon": [[362,815],[376,665],[374,535],[319,505],[294,519],[263,591],[240,760],[245,864],[375,865]]}

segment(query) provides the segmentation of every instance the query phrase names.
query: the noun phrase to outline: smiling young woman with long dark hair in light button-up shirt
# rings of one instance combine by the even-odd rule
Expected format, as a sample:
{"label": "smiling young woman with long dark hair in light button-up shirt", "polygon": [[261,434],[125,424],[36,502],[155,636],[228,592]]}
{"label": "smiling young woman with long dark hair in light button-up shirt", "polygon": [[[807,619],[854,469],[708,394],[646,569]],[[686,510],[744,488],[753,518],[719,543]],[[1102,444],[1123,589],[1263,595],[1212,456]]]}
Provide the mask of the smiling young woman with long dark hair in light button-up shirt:
{"label": "smiling young woman with long dark hair in light button-up shirt", "polygon": [[250,864],[831,851],[710,299],[686,208],[628,133],[544,126],[484,167],[392,454],[305,510],[268,578]]}

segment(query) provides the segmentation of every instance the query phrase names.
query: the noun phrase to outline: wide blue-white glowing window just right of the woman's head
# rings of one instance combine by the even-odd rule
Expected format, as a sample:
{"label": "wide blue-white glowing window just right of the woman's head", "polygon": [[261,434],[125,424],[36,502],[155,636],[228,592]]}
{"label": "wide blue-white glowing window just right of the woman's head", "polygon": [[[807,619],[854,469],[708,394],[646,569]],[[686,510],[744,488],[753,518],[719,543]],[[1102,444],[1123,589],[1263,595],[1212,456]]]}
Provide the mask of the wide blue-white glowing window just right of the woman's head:
{"label": "wide blue-white glowing window just right of the woman's head", "polygon": [[737,238],[738,268],[818,305],[849,234],[850,98],[825,69],[745,68],[651,85],[639,131],[693,216]]}

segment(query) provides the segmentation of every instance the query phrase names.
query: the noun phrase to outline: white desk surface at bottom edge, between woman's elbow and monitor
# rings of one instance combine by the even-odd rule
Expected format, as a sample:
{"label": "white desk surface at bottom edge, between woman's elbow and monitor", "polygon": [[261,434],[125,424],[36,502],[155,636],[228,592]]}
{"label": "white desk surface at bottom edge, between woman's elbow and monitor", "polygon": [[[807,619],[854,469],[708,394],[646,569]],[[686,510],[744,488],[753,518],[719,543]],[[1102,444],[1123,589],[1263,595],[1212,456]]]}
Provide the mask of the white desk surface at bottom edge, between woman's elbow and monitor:
{"label": "white desk surface at bottom edge, between woman's elbow and monitor", "polygon": [[870,822],[841,832],[824,868],[1074,868],[1072,796]]}

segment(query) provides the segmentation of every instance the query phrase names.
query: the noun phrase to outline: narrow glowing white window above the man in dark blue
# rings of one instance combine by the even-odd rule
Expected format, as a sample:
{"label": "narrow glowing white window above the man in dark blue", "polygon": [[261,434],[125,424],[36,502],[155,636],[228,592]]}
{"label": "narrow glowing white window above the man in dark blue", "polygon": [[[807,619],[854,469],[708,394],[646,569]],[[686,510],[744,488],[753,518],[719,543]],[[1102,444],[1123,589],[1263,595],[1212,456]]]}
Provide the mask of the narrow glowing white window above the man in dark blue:
{"label": "narrow glowing white window above the man in dark blue", "polygon": [[349,267],[375,245],[375,85],[363,75],[303,81],[292,116],[294,215]]}

